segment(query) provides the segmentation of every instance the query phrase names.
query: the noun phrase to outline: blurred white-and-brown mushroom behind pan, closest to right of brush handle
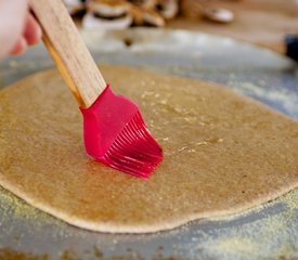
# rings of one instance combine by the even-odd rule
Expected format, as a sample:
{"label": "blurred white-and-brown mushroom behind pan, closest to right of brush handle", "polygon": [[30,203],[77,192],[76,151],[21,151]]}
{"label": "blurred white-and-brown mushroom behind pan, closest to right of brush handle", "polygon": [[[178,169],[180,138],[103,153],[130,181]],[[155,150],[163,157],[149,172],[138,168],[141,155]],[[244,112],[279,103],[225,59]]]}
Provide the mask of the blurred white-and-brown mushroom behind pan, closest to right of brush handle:
{"label": "blurred white-and-brown mushroom behind pan, closest to right of brush handle", "polygon": [[82,20],[85,28],[124,29],[132,24],[126,0],[90,0]]}

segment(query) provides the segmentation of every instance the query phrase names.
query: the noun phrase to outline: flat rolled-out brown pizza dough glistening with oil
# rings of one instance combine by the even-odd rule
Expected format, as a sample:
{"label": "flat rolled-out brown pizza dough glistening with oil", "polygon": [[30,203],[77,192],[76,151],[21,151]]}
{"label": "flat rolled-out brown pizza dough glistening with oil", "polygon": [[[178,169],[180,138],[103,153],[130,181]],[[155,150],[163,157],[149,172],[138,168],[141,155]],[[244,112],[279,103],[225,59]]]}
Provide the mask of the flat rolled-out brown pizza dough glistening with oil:
{"label": "flat rolled-out brown pizza dough glistening with oil", "polygon": [[81,115],[55,70],[0,92],[0,184],[70,224],[155,232],[239,212],[298,185],[298,122],[229,89],[104,66],[140,104],[165,159],[146,181],[87,157]]}

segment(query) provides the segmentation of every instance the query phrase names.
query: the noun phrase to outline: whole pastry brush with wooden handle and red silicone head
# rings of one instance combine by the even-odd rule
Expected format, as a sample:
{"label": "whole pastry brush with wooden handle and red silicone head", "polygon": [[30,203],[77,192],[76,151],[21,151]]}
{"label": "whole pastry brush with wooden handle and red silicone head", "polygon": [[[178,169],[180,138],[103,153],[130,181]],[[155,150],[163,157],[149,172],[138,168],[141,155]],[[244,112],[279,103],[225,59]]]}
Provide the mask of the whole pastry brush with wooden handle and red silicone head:
{"label": "whole pastry brush with wooden handle and red silicone head", "polygon": [[88,155],[120,171],[147,178],[163,160],[138,105],[115,95],[61,0],[30,0],[43,41],[80,104]]}

